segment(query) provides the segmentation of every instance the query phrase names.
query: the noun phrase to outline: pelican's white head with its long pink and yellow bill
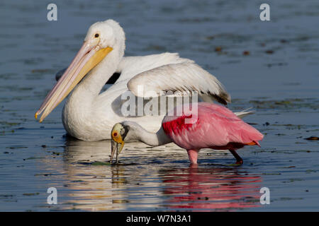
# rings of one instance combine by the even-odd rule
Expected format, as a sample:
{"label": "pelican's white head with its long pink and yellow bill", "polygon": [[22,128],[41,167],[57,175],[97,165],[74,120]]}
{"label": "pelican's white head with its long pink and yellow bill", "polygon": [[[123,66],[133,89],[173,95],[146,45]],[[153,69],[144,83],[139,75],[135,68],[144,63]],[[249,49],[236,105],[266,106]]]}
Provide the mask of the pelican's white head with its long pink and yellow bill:
{"label": "pelican's white head with its long pink and yellow bill", "polygon": [[39,114],[40,122],[52,112],[73,88],[91,71],[97,64],[107,60],[106,56],[113,52],[117,57],[123,57],[125,49],[125,35],[121,26],[114,20],[105,20],[91,25],[81,49],[73,61],[63,73],[60,80],[47,94],[43,104],[35,113],[35,119]]}

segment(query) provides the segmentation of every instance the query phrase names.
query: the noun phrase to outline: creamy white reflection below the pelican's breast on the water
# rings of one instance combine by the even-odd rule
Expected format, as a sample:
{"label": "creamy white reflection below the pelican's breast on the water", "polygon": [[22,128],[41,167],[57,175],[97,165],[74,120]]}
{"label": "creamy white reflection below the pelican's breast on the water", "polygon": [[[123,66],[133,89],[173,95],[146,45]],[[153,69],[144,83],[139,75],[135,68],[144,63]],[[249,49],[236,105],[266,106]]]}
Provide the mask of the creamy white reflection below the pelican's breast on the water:
{"label": "creamy white reflection below the pelican's breast on the water", "polygon": [[[103,165],[109,159],[110,141],[79,141],[67,137],[64,169],[73,208],[79,210],[121,210],[127,203],[123,193],[125,167]],[[66,206],[68,209],[69,206]]]}

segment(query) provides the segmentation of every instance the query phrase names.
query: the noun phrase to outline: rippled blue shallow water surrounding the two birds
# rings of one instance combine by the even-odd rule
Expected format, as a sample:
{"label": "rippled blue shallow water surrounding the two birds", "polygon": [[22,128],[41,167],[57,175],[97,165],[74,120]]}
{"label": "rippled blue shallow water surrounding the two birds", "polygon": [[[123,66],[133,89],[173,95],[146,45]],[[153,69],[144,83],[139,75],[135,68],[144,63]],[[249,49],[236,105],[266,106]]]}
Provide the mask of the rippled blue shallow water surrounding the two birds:
{"label": "rippled blue shallow water surrounding the two birds", "polygon": [[[0,210],[319,210],[319,141],[305,140],[319,136],[318,1],[269,1],[270,22],[256,1],[55,3],[57,22],[45,2],[0,3]],[[240,167],[202,150],[191,167],[176,145],[129,143],[107,165],[109,141],[65,136],[62,105],[35,121],[55,72],[107,18],[123,26],[126,55],[179,52],[217,76],[230,109],[254,108],[245,121],[264,133],[262,148],[239,150]],[[47,204],[52,186],[57,205]]]}

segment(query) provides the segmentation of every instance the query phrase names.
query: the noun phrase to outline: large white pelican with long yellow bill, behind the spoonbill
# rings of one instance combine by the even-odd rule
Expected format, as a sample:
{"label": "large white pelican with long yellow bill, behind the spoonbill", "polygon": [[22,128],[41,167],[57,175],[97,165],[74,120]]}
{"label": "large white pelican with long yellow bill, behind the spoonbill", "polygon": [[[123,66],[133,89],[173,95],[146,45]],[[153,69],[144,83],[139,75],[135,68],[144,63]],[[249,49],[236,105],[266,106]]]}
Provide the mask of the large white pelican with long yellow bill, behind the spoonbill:
{"label": "large white pelican with long yellow bill, behind the spoonbill", "polygon": [[[125,34],[116,21],[91,25],[81,49],[45,97],[35,119],[42,114],[40,122],[43,121],[73,90],[62,112],[65,130],[80,140],[100,141],[111,138],[111,129],[117,121],[135,121],[154,132],[159,129],[164,115],[124,117],[121,114],[121,95],[130,90],[137,96],[138,85],[144,85],[145,92],[154,90],[158,95],[169,90],[197,91],[204,101],[230,102],[230,95],[218,79],[194,61],[171,53],[123,57],[124,50]],[[115,72],[121,76],[100,93]]]}

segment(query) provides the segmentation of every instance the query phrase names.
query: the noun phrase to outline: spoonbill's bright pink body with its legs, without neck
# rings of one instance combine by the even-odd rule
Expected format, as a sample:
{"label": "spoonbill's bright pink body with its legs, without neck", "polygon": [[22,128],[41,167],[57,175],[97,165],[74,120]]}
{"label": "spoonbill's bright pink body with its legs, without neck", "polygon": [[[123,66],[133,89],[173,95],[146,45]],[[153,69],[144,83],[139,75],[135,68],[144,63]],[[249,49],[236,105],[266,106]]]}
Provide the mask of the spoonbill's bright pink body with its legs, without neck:
{"label": "spoonbill's bright pink body with its legs, without neck", "polygon": [[[171,112],[162,121],[166,135],[179,147],[187,150],[193,164],[197,164],[201,148],[230,150],[237,160],[236,164],[242,164],[242,158],[235,150],[245,145],[259,145],[258,141],[264,137],[226,107],[207,102],[198,102],[197,107],[197,112],[183,113],[178,117],[170,116],[174,115]],[[187,124],[185,120],[191,118],[197,120],[193,124]]]}

